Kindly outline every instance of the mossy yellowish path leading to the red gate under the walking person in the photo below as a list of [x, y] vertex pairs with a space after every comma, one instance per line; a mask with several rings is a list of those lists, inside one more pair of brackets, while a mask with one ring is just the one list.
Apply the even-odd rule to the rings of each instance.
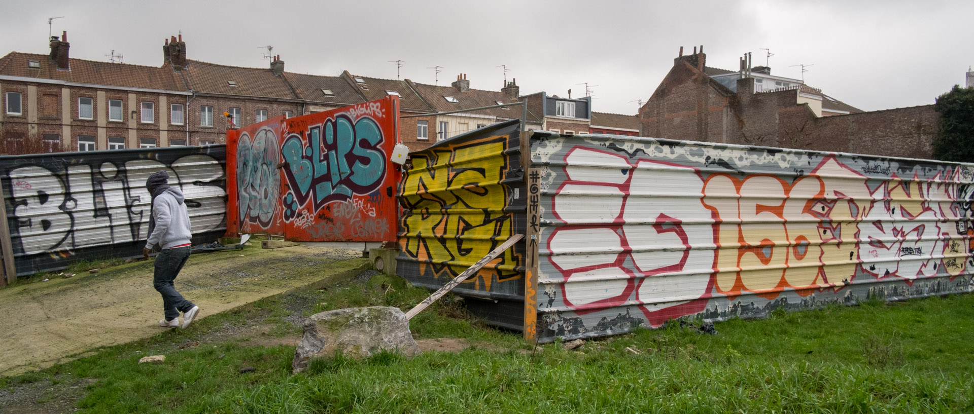
[[[176, 289], [206, 318], [323, 279], [354, 275], [367, 264], [360, 255], [309, 246], [193, 255]], [[0, 376], [160, 332], [162, 298], [152, 288], [152, 265], [152, 260], [134, 262], [0, 290]]]

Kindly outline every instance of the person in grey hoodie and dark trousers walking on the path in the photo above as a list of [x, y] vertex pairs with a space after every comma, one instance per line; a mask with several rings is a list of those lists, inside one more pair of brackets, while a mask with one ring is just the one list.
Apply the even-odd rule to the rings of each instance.
[[176, 292], [172, 281], [186, 264], [190, 253], [189, 214], [182, 191], [169, 187], [169, 174], [158, 171], [149, 176], [145, 188], [152, 194], [152, 210], [149, 216], [149, 240], [142, 256], [159, 249], [156, 256], [156, 272], [152, 285], [163, 295], [163, 311], [166, 318], [159, 321], [164, 328], [179, 326], [179, 312], [183, 313], [182, 328], [196, 319], [200, 307]]

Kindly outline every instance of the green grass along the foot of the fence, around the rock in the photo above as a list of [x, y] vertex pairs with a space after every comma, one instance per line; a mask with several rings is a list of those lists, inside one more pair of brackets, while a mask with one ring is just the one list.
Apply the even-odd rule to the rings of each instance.
[[[933, 297], [731, 320], [716, 335], [656, 330], [532, 350], [519, 334], [464, 318], [456, 299], [411, 322], [422, 338], [476, 344], [406, 359], [313, 360], [291, 375], [292, 346], [176, 344], [257, 320], [296, 335], [298, 316], [350, 306], [409, 308], [428, 293], [402, 280], [303, 291], [214, 315], [92, 357], [0, 381], [15, 388], [97, 378], [78, 403], [92, 413], [891, 413], [974, 412], [974, 295]], [[461, 318], [457, 318], [461, 316]], [[284, 327], [284, 328], [280, 328]], [[626, 348], [637, 350], [634, 354]], [[146, 355], [167, 361], [135, 363]], [[252, 372], [240, 373], [244, 366]]]

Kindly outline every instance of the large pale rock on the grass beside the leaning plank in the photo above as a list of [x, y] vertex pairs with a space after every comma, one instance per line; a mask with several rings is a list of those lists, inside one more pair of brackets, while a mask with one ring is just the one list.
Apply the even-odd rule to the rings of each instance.
[[409, 332], [409, 320], [398, 308], [370, 306], [321, 312], [305, 321], [291, 367], [298, 373], [312, 358], [333, 357], [336, 352], [367, 358], [384, 350], [409, 357], [420, 353]]

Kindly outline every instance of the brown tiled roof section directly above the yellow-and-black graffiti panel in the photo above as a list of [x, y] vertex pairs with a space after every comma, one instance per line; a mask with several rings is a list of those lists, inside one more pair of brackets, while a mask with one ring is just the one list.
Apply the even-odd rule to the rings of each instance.
[[[459, 111], [462, 109], [479, 108], [484, 106], [497, 105], [498, 101], [503, 103], [514, 103], [516, 99], [510, 99], [505, 92], [495, 90], [469, 89], [461, 92], [454, 86], [433, 86], [417, 84], [408, 81], [413, 88], [432, 106], [437, 112]], [[444, 96], [455, 98], [457, 102], [449, 102]], [[494, 108], [471, 112], [471, 114], [491, 115], [506, 119], [521, 118], [520, 107]]]

